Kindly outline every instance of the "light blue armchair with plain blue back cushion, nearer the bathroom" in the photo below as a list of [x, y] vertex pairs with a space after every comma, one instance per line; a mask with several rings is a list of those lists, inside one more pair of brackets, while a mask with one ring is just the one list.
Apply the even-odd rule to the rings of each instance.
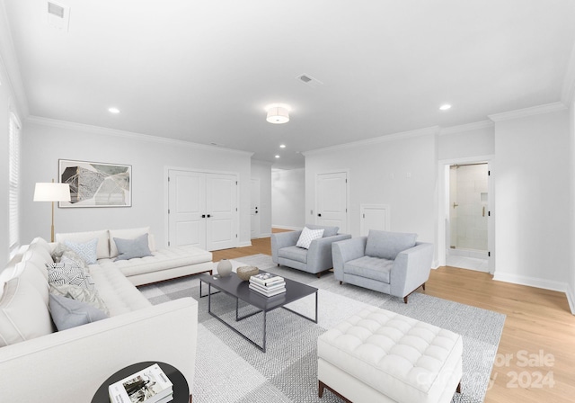
[[369, 290], [403, 298], [425, 290], [433, 260], [433, 244], [416, 242], [416, 234], [370, 230], [332, 244], [335, 278]]

